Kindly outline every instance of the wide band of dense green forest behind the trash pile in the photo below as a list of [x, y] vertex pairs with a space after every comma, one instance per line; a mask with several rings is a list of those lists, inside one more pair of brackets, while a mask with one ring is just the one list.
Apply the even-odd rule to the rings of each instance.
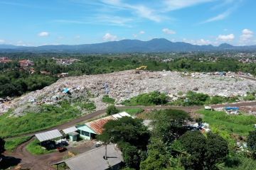
[[[12, 62], [0, 63], [0, 97], [21, 96], [42, 89], [57, 81], [58, 74], [68, 76], [103, 74], [146, 65], [149, 71], [182, 72], [247, 72], [256, 75], [256, 64], [244, 64], [238, 59], [221, 54], [132, 54], [132, 55], [80, 55], [80, 54], [33, 54], [6, 53]], [[78, 59], [73, 64], [61, 64], [60, 59]], [[202, 60], [203, 58], [203, 60]], [[21, 67], [19, 60], [31, 60], [33, 66]], [[33, 72], [31, 72], [33, 68]]]

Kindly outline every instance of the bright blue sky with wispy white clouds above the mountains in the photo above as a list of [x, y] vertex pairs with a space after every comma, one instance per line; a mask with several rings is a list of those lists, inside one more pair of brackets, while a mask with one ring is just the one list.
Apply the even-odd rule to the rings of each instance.
[[166, 38], [255, 45], [255, 0], [0, 0], [0, 44]]

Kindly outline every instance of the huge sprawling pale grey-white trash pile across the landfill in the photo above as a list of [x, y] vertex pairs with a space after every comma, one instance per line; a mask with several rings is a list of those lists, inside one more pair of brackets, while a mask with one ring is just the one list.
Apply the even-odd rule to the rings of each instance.
[[[108, 94], [117, 103], [142, 93], [161, 91], [177, 95], [178, 92], [198, 91], [210, 96], [244, 96], [247, 91], [256, 89], [255, 81], [240, 77], [220, 77], [219, 75], [193, 74], [187, 76], [181, 72], [141, 72], [134, 70], [111, 74], [65, 77], [41, 90], [33, 91], [11, 101], [11, 108], [19, 108], [28, 103], [55, 104], [58, 101], [90, 99], [95, 101], [97, 110], [107, 107], [102, 96]], [[0, 111], [1, 112], [1, 111]]]

